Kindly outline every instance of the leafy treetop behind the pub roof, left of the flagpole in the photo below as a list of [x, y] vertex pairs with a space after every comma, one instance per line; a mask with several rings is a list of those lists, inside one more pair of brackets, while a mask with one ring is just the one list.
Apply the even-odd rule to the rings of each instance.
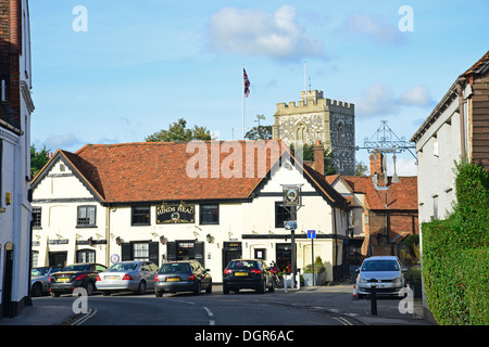
[[205, 127], [193, 126], [187, 129], [187, 120], [179, 118], [168, 130], [160, 130], [145, 139], [147, 142], [187, 142], [191, 140], [211, 140], [211, 131]]

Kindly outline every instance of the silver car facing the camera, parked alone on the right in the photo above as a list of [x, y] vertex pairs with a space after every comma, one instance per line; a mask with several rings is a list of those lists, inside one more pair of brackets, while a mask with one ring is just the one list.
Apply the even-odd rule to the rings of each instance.
[[356, 269], [356, 293], [358, 297], [369, 295], [372, 293], [372, 283], [376, 285], [378, 295], [398, 295], [404, 287], [403, 272], [406, 268], [402, 267], [401, 261], [396, 256], [376, 256], [363, 260], [362, 266]]

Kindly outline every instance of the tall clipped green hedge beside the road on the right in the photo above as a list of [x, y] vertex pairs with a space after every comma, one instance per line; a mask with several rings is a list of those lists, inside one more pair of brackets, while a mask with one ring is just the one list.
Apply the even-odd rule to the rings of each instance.
[[439, 324], [489, 324], [489, 180], [455, 163], [457, 203], [447, 220], [423, 223], [423, 281]]

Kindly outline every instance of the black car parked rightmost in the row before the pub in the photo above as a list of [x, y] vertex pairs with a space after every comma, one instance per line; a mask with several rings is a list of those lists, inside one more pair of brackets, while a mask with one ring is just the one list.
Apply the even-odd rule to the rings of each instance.
[[236, 259], [229, 261], [224, 270], [223, 292], [239, 292], [239, 290], [250, 288], [259, 293], [275, 291], [273, 274], [268, 266], [261, 259]]

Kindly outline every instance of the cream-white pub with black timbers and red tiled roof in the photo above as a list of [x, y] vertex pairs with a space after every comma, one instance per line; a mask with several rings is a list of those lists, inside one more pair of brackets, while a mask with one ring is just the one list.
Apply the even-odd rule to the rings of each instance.
[[[196, 144], [197, 143], [197, 144]], [[314, 163], [296, 159], [279, 140], [87, 144], [58, 150], [32, 182], [34, 267], [122, 260], [197, 259], [214, 283], [229, 260], [261, 258], [290, 270], [314, 256], [328, 281], [344, 270], [350, 207], [324, 179], [324, 147]], [[301, 205], [284, 206], [284, 187]]]

